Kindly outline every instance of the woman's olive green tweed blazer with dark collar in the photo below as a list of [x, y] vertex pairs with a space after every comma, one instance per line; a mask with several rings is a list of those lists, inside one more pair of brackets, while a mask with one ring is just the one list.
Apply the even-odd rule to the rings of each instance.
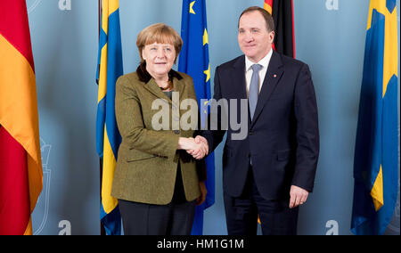
[[[184, 99], [196, 101], [192, 78], [184, 73], [170, 70], [174, 92], [179, 102]], [[151, 110], [152, 102], [163, 99], [169, 107], [170, 130], [155, 130], [152, 118], [159, 110]], [[174, 99], [173, 99], [174, 100]], [[193, 137], [194, 130], [172, 130], [173, 104], [156, 84], [154, 78], [141, 66], [136, 72], [119, 78], [116, 84], [116, 118], [122, 142], [114, 172], [111, 195], [117, 199], [166, 205], [173, 198], [178, 163], [184, 183], [186, 200], [201, 195], [199, 182], [206, 179], [206, 167], [186, 151], [177, 151], [179, 137]], [[187, 110], [179, 110], [182, 116]], [[201, 164], [201, 165], [200, 165]]]

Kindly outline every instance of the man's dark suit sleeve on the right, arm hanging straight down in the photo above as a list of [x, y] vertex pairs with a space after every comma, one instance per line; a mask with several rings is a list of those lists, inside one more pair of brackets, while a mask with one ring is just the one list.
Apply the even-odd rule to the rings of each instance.
[[292, 184], [312, 192], [319, 157], [319, 127], [315, 88], [307, 64], [300, 69], [296, 81], [294, 112], [297, 152]]

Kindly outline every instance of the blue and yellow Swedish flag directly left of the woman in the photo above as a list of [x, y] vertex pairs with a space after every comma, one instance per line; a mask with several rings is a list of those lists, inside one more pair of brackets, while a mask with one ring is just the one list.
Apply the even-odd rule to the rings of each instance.
[[111, 197], [121, 135], [114, 110], [116, 81], [123, 74], [119, 26], [119, 0], [102, 0], [97, 79], [99, 94], [96, 118], [96, 150], [102, 159], [101, 221], [107, 234], [121, 234], [118, 201]]

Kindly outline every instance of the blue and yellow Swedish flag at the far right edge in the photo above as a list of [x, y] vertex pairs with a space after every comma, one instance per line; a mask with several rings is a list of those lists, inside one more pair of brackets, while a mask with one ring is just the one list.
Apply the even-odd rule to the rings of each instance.
[[371, 0], [354, 161], [355, 234], [383, 234], [398, 189], [396, 0]]

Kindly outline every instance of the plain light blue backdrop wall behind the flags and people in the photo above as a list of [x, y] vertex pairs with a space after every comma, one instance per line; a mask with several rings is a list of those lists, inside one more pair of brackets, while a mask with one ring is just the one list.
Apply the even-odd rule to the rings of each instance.
[[[241, 54], [237, 44], [240, 13], [263, 2], [207, 1], [211, 77], [219, 64]], [[119, 3], [124, 72], [128, 73], [139, 62], [138, 32], [155, 22], [165, 22], [179, 32], [182, 1]], [[33, 215], [34, 233], [99, 234], [94, 82], [98, 1], [27, 0], [27, 4], [44, 169], [44, 191]], [[315, 192], [300, 208], [299, 234], [350, 234], [368, 8], [366, 0], [294, 0], [297, 58], [307, 62], [313, 74], [321, 131]], [[397, 11], [399, 25], [399, 0]], [[216, 151], [216, 204], [205, 213], [205, 234], [226, 234], [221, 156], [222, 145]], [[399, 234], [399, 197], [387, 233]]]

